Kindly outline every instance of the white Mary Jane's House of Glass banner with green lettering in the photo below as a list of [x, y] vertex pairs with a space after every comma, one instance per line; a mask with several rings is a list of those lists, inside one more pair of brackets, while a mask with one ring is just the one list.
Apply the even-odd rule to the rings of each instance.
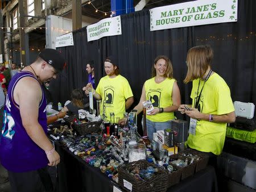
[[238, 0], [197, 0], [150, 10], [150, 31], [237, 22]]

